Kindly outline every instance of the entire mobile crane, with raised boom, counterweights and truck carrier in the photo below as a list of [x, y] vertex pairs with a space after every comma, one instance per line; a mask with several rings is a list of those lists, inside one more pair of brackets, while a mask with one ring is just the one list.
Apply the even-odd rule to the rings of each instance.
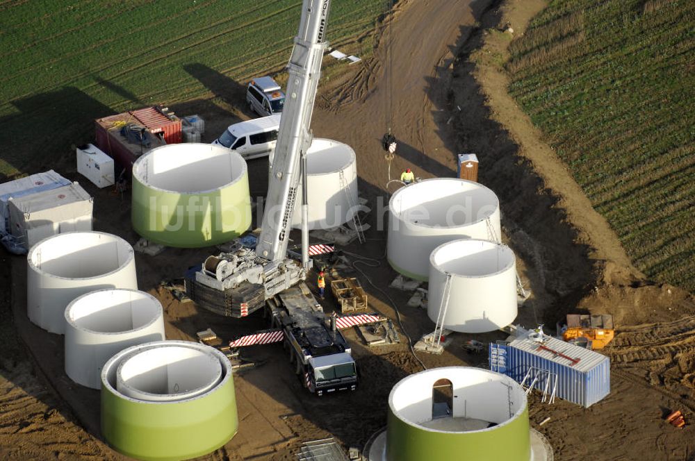
[[[265, 305], [284, 334], [297, 374], [317, 394], [355, 389], [357, 368], [340, 330], [331, 325], [303, 283], [311, 269], [306, 151], [321, 60], [327, 47], [331, 0], [304, 0], [299, 33], [287, 65], [286, 102], [280, 119], [261, 233], [255, 248], [208, 257], [186, 276], [186, 292], [197, 305], [221, 315], [245, 317]], [[297, 187], [302, 187], [302, 260], [288, 258], [287, 246]]]

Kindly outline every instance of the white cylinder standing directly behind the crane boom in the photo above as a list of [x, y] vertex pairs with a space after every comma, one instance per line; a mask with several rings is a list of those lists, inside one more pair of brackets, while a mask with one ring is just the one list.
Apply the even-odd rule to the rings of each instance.
[[[268, 158], [271, 174], [272, 160], [271, 152]], [[306, 185], [309, 229], [333, 228], [352, 219], [358, 203], [357, 157], [352, 147], [334, 140], [314, 139], [306, 152]], [[297, 188], [292, 226], [302, 226], [301, 182]]]

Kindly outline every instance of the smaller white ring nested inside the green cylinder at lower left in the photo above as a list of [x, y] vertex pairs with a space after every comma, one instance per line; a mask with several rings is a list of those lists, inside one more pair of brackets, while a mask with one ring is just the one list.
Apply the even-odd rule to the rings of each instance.
[[206, 349], [167, 344], [136, 351], [116, 372], [116, 390], [142, 401], [179, 401], [205, 394], [222, 380], [220, 360]]

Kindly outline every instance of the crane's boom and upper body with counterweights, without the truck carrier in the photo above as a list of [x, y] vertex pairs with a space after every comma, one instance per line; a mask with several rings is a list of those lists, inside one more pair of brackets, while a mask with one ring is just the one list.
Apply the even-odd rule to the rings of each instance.
[[[186, 277], [190, 299], [213, 312], [245, 317], [266, 300], [306, 278], [309, 260], [309, 206], [306, 193], [306, 151], [321, 73], [326, 22], [331, 0], [303, 0], [302, 19], [287, 65], [285, 106], [280, 118], [261, 233], [254, 249], [234, 242], [236, 249], [208, 257]], [[302, 191], [302, 264], [288, 258], [287, 246], [297, 187]]]

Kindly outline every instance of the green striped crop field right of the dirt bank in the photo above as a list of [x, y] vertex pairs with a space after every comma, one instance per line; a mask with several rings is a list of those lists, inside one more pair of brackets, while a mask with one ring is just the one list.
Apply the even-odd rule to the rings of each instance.
[[551, 1], [509, 90], [635, 265], [695, 290], [695, 2]]

